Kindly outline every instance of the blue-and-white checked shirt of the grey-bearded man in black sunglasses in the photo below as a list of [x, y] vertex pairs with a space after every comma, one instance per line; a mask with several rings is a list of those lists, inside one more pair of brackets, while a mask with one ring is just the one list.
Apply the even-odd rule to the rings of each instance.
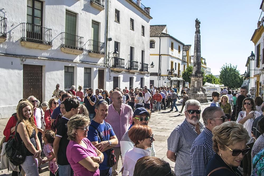
[[[204, 130], [204, 125], [198, 122], [200, 131]], [[195, 126], [186, 119], [178, 125], [169, 136], [168, 150], [176, 155], [174, 172], [177, 176], [191, 175], [191, 147], [198, 136]]]

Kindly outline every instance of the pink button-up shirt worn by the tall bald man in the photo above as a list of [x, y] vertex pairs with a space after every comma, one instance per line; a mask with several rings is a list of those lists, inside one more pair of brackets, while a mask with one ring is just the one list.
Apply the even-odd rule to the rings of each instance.
[[[133, 117], [133, 110], [131, 106], [122, 103], [120, 110], [121, 111], [119, 115], [113, 104], [110, 104], [108, 108], [108, 115], [105, 119], [105, 121], [112, 126], [118, 141], [120, 141], [125, 132], [128, 131]], [[116, 147], [120, 147], [119, 142]]]

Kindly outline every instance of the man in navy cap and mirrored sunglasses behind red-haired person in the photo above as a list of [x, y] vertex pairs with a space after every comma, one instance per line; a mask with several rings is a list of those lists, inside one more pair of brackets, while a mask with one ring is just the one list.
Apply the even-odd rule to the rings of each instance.
[[[147, 110], [143, 107], [137, 108], [134, 111], [133, 114], [133, 122], [131, 124], [131, 126], [129, 127], [129, 129], [136, 124], [139, 125], [148, 125], [149, 119], [151, 116], [151, 111]], [[121, 159], [122, 159], [122, 163], [124, 163], [124, 156], [126, 154], [126, 152], [129, 149], [133, 149], [134, 147], [134, 143], [131, 141], [131, 139], [128, 137], [128, 132], [129, 130], [124, 134], [124, 136], [122, 137], [122, 139], [120, 140], [120, 147], [121, 147]], [[156, 156], [156, 151], [154, 149], [154, 143], [152, 144], [151, 148], [148, 148], [147, 150], [152, 151], [151, 156]]]

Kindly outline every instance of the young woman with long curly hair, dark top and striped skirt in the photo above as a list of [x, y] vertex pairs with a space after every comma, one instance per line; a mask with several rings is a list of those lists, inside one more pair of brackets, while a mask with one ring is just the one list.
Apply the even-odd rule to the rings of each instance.
[[22, 101], [17, 105], [17, 140], [26, 146], [26, 158], [21, 164], [26, 175], [39, 175], [38, 162], [42, 162], [41, 146], [32, 112], [33, 106], [29, 101]]

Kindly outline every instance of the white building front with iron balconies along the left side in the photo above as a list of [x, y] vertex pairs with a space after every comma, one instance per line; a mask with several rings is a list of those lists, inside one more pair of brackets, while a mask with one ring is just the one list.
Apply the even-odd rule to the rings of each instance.
[[[148, 29], [151, 17], [149, 8], [143, 8], [140, 1], [126, 0], [122, 4], [111, 1], [108, 17], [107, 1], [104, 0], [0, 0], [0, 4], [3, 8], [0, 11], [0, 81], [7, 90], [4, 94], [8, 95], [0, 98], [0, 118], [10, 117], [18, 101], [30, 95], [40, 102], [49, 101], [56, 84], [60, 84], [62, 90], [69, 90], [72, 85], [77, 88], [82, 85], [84, 89], [113, 89], [113, 78], [123, 77], [123, 73], [114, 75], [109, 72], [112, 72], [112, 65], [107, 60], [107, 53], [114, 49], [114, 43], [106, 40], [107, 31], [108, 36], [111, 35], [113, 41], [119, 41], [121, 45], [132, 38], [132, 34], [127, 38], [130, 31], [121, 32], [111, 26], [117, 7], [123, 15], [120, 29], [127, 24], [129, 26], [130, 17], [125, 15], [127, 9], [135, 20], [136, 34], [141, 36], [144, 25], [145, 38], [135, 39], [133, 45], [137, 47], [136, 44], [140, 43], [140, 49], [145, 51], [143, 61], [149, 63]], [[110, 47], [106, 50], [107, 42]], [[125, 50], [129, 52], [129, 49], [120, 48], [123, 51], [120, 51], [119, 57], [125, 57]], [[147, 71], [138, 70], [139, 75], [145, 78], [143, 80], [148, 82]], [[134, 73], [131, 75], [135, 76]], [[138, 79], [135, 76], [135, 83], [139, 85]], [[119, 86], [128, 85], [129, 81]]]

